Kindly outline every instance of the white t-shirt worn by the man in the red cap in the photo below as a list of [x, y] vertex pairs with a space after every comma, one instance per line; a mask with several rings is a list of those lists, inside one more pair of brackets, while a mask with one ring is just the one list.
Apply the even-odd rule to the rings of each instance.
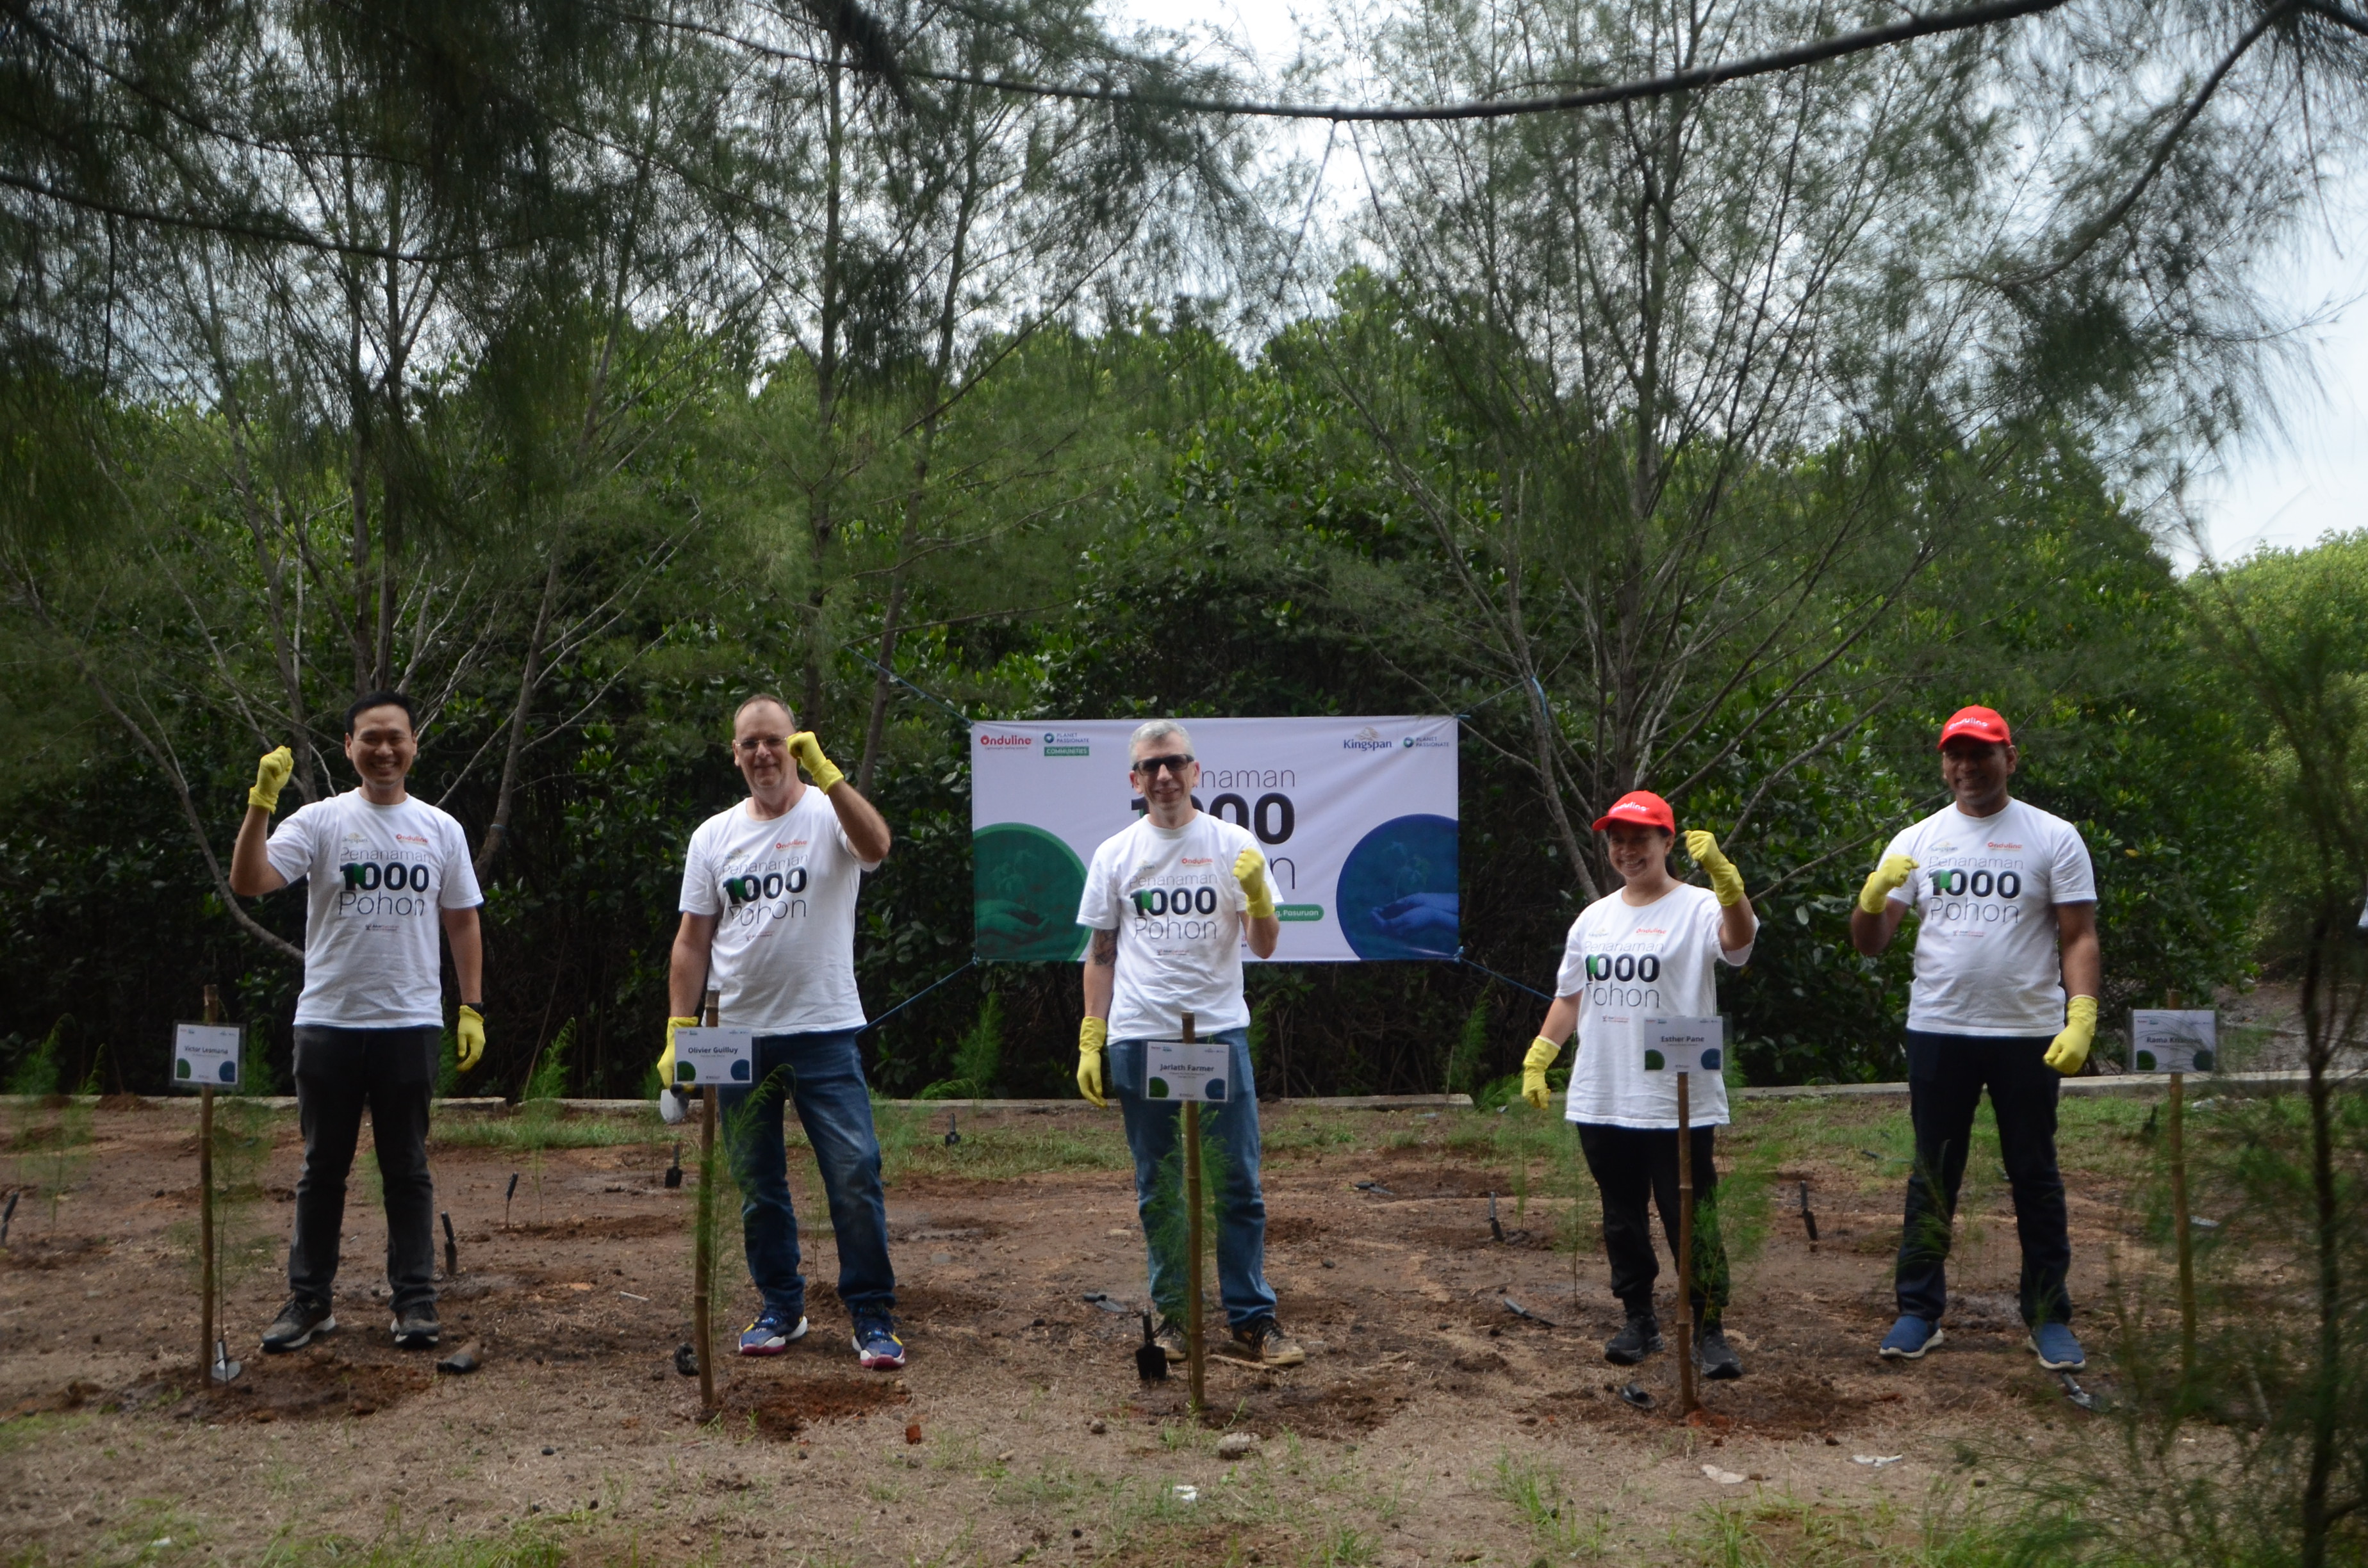
[[1916, 872], [1892, 902], [1918, 914], [1909, 1028], [2053, 1035], [2065, 1026], [2055, 905], [2096, 902], [2079, 829], [2008, 801], [1996, 817], [1946, 805], [1892, 838]]

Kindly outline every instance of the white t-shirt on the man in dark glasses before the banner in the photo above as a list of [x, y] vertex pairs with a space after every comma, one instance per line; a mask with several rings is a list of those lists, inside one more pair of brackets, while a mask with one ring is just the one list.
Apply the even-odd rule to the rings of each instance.
[[1111, 1040], [1175, 1040], [1186, 1011], [1201, 1037], [1248, 1028], [1241, 933], [1250, 900], [1234, 860], [1255, 846], [1250, 829], [1193, 812], [1184, 827], [1137, 817], [1094, 850], [1077, 924], [1118, 931]]

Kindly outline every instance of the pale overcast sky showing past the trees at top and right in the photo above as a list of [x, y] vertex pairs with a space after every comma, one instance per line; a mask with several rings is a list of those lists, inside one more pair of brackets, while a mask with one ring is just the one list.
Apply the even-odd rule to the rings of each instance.
[[[1298, 17], [1321, 21], [1317, 5], [1238, 5], [1236, 0], [1113, 0], [1118, 17], [1189, 28], [1250, 54], [1269, 83], [1298, 50]], [[1328, 130], [1291, 128], [1314, 161]], [[1354, 180], [1340, 149], [1326, 187]], [[1338, 197], [1338, 192], [1328, 192]], [[1328, 206], [1328, 204], [1326, 204]], [[2226, 469], [2190, 490], [2212, 554], [2235, 559], [2257, 547], [2311, 545], [2325, 533], [2368, 528], [2368, 178], [2330, 194], [2328, 213], [2297, 234], [2297, 258], [2280, 291], [2297, 313], [2328, 313], [2306, 334], [2311, 372], [2278, 384], [2276, 419], [2226, 455]], [[2176, 552], [2183, 561], [2188, 550]]]

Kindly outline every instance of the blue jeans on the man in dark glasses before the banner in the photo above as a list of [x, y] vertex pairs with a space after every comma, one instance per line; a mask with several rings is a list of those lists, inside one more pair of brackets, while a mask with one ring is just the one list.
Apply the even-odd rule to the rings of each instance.
[[[1217, 1191], [1217, 1293], [1234, 1329], [1274, 1317], [1267, 1284], [1267, 1194], [1257, 1187], [1257, 1085], [1250, 1078], [1250, 1030], [1222, 1028], [1205, 1035], [1234, 1047], [1234, 1073], [1224, 1104], [1201, 1106], [1201, 1172]], [[1134, 1208], [1144, 1220], [1151, 1255], [1151, 1300], [1184, 1319], [1191, 1272], [1184, 1267], [1184, 1106], [1144, 1099], [1144, 1042], [1111, 1042], [1111, 1092], [1127, 1120], [1134, 1151]]]

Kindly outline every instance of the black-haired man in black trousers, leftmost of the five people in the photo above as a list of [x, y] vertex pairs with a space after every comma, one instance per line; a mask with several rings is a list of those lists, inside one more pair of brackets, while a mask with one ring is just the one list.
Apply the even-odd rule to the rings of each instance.
[[485, 902], [459, 822], [405, 789], [419, 760], [412, 699], [369, 692], [346, 708], [346, 758], [362, 786], [301, 808], [270, 831], [296, 758], [279, 746], [256, 765], [246, 820], [230, 850], [242, 898], [308, 883], [303, 992], [296, 997], [296, 1241], [289, 1300], [265, 1350], [296, 1350], [336, 1329], [332, 1315], [346, 1177], [369, 1111], [386, 1201], [386, 1286], [395, 1343], [436, 1343], [436, 1182], [429, 1175], [429, 1097], [443, 1047], [438, 926], [459, 978], [459, 1071], [485, 1052]]

